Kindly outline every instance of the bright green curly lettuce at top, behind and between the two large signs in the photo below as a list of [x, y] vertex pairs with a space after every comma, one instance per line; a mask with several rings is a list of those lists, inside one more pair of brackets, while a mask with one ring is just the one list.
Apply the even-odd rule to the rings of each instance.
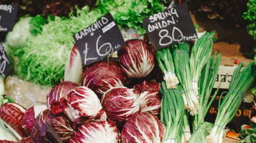
[[142, 19], [164, 10], [161, 1], [101, 0], [98, 9], [110, 12], [120, 28], [133, 28], [140, 35], [146, 33]]

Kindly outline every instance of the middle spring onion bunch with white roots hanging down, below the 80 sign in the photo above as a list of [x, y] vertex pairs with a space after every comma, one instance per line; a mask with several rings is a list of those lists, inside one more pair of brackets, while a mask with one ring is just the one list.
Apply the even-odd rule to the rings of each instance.
[[185, 108], [191, 115], [197, 114], [199, 102], [193, 90], [192, 77], [189, 67], [189, 44], [173, 45], [173, 61], [175, 73], [179, 79], [183, 93]]

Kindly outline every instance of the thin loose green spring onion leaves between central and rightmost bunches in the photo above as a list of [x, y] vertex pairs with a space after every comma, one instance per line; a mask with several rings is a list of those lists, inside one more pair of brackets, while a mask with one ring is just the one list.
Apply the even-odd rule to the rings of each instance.
[[220, 61], [221, 54], [217, 54], [217, 52], [215, 52], [201, 72], [201, 77], [199, 78], [198, 82], [198, 98], [200, 108], [198, 114], [194, 116], [193, 130], [196, 130], [199, 125], [204, 122], [204, 117], [207, 114], [207, 111], [209, 110], [213, 100], [217, 96], [219, 88], [215, 91], [214, 95], [210, 99], [214, 82], [219, 71]]

